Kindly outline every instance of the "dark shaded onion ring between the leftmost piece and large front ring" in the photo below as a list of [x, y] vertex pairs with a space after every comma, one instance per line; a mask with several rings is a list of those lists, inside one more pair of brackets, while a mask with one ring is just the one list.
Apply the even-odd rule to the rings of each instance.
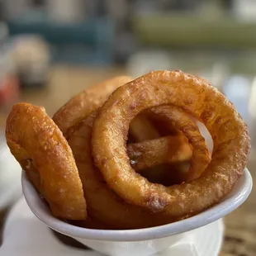
[[[168, 223], [170, 220], [166, 216], [152, 215], [138, 206], [130, 205], [107, 186], [91, 154], [92, 122], [95, 116], [96, 112], [81, 121], [69, 138], [83, 183], [88, 215], [111, 225], [113, 229], [136, 229]], [[86, 222], [83, 226], [87, 226]]]

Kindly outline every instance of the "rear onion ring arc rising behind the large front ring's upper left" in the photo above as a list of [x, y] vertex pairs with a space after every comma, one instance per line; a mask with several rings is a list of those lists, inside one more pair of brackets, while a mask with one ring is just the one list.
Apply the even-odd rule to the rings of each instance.
[[53, 121], [59, 126], [66, 138], [73, 132], [73, 126], [83, 117], [88, 116], [97, 107], [101, 107], [111, 92], [115, 91], [121, 85], [130, 82], [131, 78], [119, 76], [97, 84], [78, 93], [72, 97], [63, 107], [53, 116]]

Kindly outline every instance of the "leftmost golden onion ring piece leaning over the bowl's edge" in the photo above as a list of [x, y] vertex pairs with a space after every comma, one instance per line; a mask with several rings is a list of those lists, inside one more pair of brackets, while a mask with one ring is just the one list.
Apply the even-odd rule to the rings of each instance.
[[6, 137], [21, 167], [29, 171], [36, 169], [40, 174], [36, 187], [53, 214], [63, 219], [84, 220], [86, 201], [78, 168], [67, 140], [47, 116], [45, 108], [28, 103], [12, 107]]

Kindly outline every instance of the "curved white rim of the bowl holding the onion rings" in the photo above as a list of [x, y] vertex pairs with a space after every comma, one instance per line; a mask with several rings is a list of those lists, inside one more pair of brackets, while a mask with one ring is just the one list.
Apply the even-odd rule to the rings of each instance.
[[235, 211], [249, 197], [253, 187], [253, 179], [249, 170], [244, 169], [244, 175], [238, 180], [239, 185], [235, 185], [230, 193], [233, 195], [226, 197], [216, 206], [212, 206], [206, 211], [189, 217], [185, 220], [179, 220], [167, 225], [137, 229], [137, 230], [92, 230], [78, 227], [59, 220], [51, 215], [50, 209], [41, 200], [36, 189], [28, 180], [25, 171], [21, 176], [22, 190], [27, 205], [34, 215], [48, 225], [51, 229], [78, 239], [92, 239], [105, 241], [142, 241], [149, 239], [159, 239], [169, 235], [178, 235], [189, 230], [197, 229], [203, 225], [210, 224], [219, 220], [223, 216]]

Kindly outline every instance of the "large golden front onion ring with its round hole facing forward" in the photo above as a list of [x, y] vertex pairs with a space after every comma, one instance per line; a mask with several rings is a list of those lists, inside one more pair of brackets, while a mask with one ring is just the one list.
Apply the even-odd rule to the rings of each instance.
[[[140, 111], [172, 104], [209, 130], [214, 149], [200, 178], [164, 187], [135, 173], [126, 151], [130, 121]], [[121, 198], [170, 217], [192, 216], [227, 195], [249, 158], [248, 128], [233, 104], [204, 79], [179, 70], [148, 73], [111, 94], [94, 121], [92, 155], [107, 184]]]

